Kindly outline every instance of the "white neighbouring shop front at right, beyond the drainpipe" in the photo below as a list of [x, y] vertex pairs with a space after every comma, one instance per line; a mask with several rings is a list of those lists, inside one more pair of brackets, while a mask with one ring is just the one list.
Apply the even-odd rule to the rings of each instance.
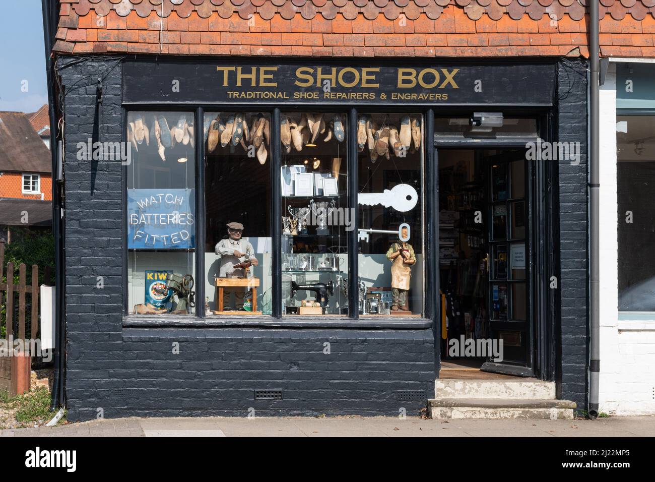
[[612, 58], [601, 87], [601, 375], [599, 410], [655, 413], [655, 66]]

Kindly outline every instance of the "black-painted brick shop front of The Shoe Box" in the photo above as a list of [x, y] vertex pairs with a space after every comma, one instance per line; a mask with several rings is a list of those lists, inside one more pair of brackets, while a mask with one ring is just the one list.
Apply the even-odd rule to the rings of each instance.
[[584, 64], [107, 58], [64, 89], [90, 71], [64, 110], [73, 418], [416, 413], [462, 359], [584, 403]]

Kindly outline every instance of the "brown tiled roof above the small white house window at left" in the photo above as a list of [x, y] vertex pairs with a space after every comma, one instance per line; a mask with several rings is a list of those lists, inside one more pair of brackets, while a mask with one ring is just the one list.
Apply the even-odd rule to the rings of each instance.
[[50, 151], [22, 112], [0, 111], [0, 172], [50, 172]]

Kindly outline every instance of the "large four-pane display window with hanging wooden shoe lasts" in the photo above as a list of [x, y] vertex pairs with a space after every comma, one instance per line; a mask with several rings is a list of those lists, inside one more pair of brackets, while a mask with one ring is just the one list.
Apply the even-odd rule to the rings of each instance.
[[[257, 111], [208, 110], [197, 127], [191, 112], [130, 112], [127, 119], [130, 312], [248, 317], [272, 315], [276, 305], [284, 317], [317, 321], [422, 316], [421, 114], [363, 112], [350, 126], [346, 111], [288, 111], [276, 132], [271, 113]], [[348, 132], [356, 136], [354, 159]], [[195, 138], [204, 151], [199, 176]], [[280, 146], [274, 167], [272, 146]], [[349, 166], [358, 172], [354, 192]], [[273, 203], [278, 169], [281, 197]], [[200, 182], [204, 199], [196, 195]], [[196, 198], [204, 218], [197, 232], [204, 273], [197, 276]], [[280, 239], [272, 239], [273, 223]], [[276, 276], [273, 249], [281, 251]], [[356, 256], [356, 279], [349, 256]], [[273, 289], [278, 275], [280, 291]], [[199, 284], [204, 300], [194, 299]], [[349, 306], [354, 290], [359, 296]]]

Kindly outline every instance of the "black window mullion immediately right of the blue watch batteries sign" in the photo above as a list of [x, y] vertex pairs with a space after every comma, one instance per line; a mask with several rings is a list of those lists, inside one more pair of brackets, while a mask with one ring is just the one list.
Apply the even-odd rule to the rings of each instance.
[[[196, 109], [196, 128], [193, 130], [196, 145], [196, 316], [204, 318], [205, 315], [205, 270], [204, 251], [206, 238], [206, 216], [204, 202], [204, 110]], [[218, 309], [218, 308], [216, 308]]]

